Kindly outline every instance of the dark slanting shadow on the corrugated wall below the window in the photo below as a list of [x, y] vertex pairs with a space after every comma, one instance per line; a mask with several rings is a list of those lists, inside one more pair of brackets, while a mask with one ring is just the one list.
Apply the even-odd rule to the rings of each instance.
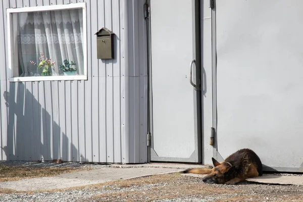
[[[43, 82], [41, 84], [43, 85]], [[86, 162], [84, 155], [79, 154], [72, 139], [66, 135], [66, 131], [61, 130], [58, 123], [52, 120], [49, 112], [25, 85], [22, 82], [10, 82], [10, 91], [3, 94], [8, 108], [7, 145], [2, 147], [6, 159], [20, 161], [62, 159]], [[40, 96], [44, 96], [42, 102], [46, 106], [45, 94]], [[53, 100], [52, 94], [51, 99]], [[65, 124], [66, 120], [59, 122]]]

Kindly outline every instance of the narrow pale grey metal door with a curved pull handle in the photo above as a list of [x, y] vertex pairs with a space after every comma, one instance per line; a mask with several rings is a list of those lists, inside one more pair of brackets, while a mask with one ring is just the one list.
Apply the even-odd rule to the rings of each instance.
[[[150, 0], [151, 161], [200, 162], [199, 92], [190, 84], [189, 68], [199, 56], [196, 4], [193, 0]], [[194, 83], [199, 80], [197, 66], [192, 66]]]

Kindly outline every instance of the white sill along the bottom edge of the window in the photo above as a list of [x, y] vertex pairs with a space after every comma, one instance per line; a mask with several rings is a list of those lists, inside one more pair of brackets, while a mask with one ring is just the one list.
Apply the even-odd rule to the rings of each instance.
[[10, 78], [10, 82], [22, 82], [22, 81], [68, 81], [68, 80], [87, 80], [87, 75], [76, 76], [29, 76], [29, 77], [13, 77]]

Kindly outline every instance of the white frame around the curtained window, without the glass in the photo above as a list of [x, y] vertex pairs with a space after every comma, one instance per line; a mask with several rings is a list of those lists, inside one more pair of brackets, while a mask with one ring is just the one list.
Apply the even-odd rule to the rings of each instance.
[[[12, 24], [11, 17], [13, 13], [25, 12], [40, 12], [40, 11], [56, 11], [56, 10], [69, 10], [69, 9], [83, 9], [83, 64], [84, 75], [75, 76], [29, 76], [29, 77], [13, 77], [13, 49], [12, 49]], [[87, 80], [87, 19], [86, 19], [86, 3], [75, 3], [67, 5], [52, 5], [52, 6], [39, 6], [39, 7], [24, 7], [7, 9], [7, 23], [8, 23], [8, 59], [9, 59], [9, 78], [10, 82], [20, 81], [60, 81], [60, 80]], [[16, 67], [15, 67], [16, 68]]]

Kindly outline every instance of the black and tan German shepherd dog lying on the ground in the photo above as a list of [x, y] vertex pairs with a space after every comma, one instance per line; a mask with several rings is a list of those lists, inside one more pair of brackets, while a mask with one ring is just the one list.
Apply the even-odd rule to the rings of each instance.
[[246, 178], [263, 174], [260, 158], [248, 148], [236, 151], [221, 163], [214, 158], [212, 160], [214, 168], [192, 168], [184, 173], [208, 174], [203, 181], [211, 184], [236, 184]]

